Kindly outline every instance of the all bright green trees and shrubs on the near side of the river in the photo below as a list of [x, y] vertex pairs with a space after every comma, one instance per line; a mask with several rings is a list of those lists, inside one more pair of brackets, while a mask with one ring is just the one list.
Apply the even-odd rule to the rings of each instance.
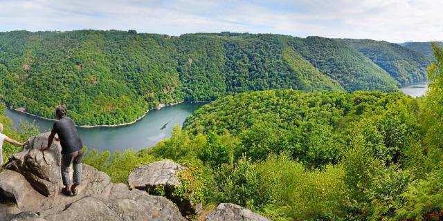
[[233, 202], [272, 220], [439, 220], [443, 48], [433, 48], [425, 97], [293, 89], [228, 95], [154, 148], [87, 151], [84, 162], [127, 182], [137, 166], [171, 159], [192, 171], [182, 197], [206, 209]]

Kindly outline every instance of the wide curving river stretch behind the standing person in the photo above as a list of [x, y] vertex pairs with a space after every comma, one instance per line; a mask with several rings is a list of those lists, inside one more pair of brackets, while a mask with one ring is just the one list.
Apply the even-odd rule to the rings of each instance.
[[[185, 121], [197, 108], [206, 103], [181, 103], [166, 106], [160, 110], [152, 110], [143, 119], [134, 124], [117, 127], [80, 128], [78, 135], [89, 149], [99, 151], [123, 151], [127, 148], [140, 150], [155, 146], [161, 140], [171, 136], [172, 128]], [[51, 131], [53, 121], [40, 119], [6, 108], [6, 115], [12, 119], [14, 126], [20, 121], [33, 122], [39, 126], [40, 132]]]

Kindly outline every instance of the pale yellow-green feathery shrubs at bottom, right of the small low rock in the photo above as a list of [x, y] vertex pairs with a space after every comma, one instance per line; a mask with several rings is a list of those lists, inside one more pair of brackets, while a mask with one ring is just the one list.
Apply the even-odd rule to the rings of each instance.
[[[290, 220], [336, 220], [343, 217], [344, 185], [341, 166], [306, 171], [289, 155], [270, 155], [257, 166], [261, 182], [271, 191], [266, 211], [281, 211]], [[278, 218], [275, 218], [278, 220]]]

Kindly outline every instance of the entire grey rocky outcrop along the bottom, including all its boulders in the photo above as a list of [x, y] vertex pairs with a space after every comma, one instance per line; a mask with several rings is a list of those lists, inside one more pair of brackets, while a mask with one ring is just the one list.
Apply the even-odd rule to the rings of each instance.
[[[23, 151], [10, 157], [8, 169], [0, 172], [0, 221], [185, 221], [183, 215], [189, 218], [201, 211], [201, 204], [175, 198], [174, 190], [181, 185], [179, 173], [188, 168], [168, 160], [136, 169], [129, 175], [131, 189], [112, 183], [106, 173], [83, 164], [78, 195], [67, 197], [60, 193], [60, 144], [54, 142], [49, 151], [39, 151], [47, 136], [48, 133], [31, 137]], [[167, 198], [150, 195], [159, 189], [180, 210]], [[206, 220], [268, 219], [235, 204], [219, 204]]]

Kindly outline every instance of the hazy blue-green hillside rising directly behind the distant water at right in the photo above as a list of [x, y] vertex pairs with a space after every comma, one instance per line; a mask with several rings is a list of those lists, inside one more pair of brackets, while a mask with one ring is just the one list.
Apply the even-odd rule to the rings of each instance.
[[424, 81], [430, 60], [424, 55], [386, 41], [341, 39], [389, 73], [401, 84]]

